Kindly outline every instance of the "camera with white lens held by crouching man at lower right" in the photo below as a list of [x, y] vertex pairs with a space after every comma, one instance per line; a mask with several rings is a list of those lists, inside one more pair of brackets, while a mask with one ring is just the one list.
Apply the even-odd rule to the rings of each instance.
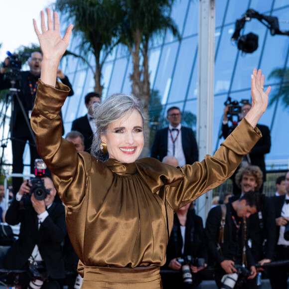
[[221, 282], [223, 283], [221, 289], [233, 289], [237, 283], [238, 287], [242, 287], [247, 278], [251, 276], [251, 272], [242, 265], [235, 264], [236, 273], [226, 274], [223, 276]]

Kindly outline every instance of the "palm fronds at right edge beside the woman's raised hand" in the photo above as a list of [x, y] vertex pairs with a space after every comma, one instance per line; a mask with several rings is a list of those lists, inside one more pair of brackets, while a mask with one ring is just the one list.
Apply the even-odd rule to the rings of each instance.
[[279, 90], [272, 95], [272, 98], [269, 102], [269, 105], [272, 106], [275, 102], [279, 101], [279, 99], [284, 104], [285, 108], [289, 107], [289, 68], [277, 68], [273, 70], [269, 79], [275, 78], [278, 79], [281, 83], [281, 87]]

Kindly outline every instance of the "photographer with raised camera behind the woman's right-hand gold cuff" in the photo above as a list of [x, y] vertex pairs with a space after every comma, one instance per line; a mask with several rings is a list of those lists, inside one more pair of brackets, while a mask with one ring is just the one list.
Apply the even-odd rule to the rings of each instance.
[[[228, 104], [229, 103], [229, 104]], [[236, 128], [238, 123], [246, 117], [247, 113], [252, 107], [252, 104], [249, 103], [249, 100], [242, 100], [241, 101], [242, 106], [239, 105], [237, 101], [231, 102], [231, 99], [229, 98], [229, 101], [225, 102], [225, 109], [224, 109], [224, 115], [223, 115], [223, 123], [222, 123], [222, 136], [224, 139], [228, 137], [228, 135]], [[234, 119], [233, 117], [237, 117], [237, 119]], [[228, 121], [232, 123], [232, 126], [229, 127]], [[259, 191], [262, 193], [263, 191], [263, 185], [266, 181], [266, 165], [265, 165], [265, 154], [270, 152], [271, 149], [271, 136], [270, 136], [270, 130], [267, 126], [259, 125], [257, 124], [257, 128], [262, 133], [262, 138], [258, 141], [257, 144], [251, 149], [251, 151], [243, 157], [243, 163], [252, 164], [252, 165], [258, 165], [260, 169], [263, 172], [263, 184], [260, 187]], [[236, 185], [235, 182], [235, 175], [238, 171], [238, 168], [234, 172], [234, 174], [230, 177], [233, 181], [233, 194], [240, 194], [240, 188]]]

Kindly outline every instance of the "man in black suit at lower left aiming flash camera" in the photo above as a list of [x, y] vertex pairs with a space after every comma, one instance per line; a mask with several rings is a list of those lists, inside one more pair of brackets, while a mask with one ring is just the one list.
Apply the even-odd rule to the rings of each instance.
[[[29, 284], [28, 288], [54, 289], [59, 288], [55, 280], [65, 278], [61, 252], [61, 242], [67, 233], [65, 210], [61, 203], [53, 202], [56, 190], [52, 180], [45, 175], [41, 179], [49, 191], [44, 200], [37, 200], [33, 193], [31, 197], [25, 197], [24, 194], [31, 189], [31, 182], [25, 181], [6, 212], [8, 224], [21, 225], [19, 238], [5, 257], [5, 268], [27, 271], [27, 276], [21, 280], [22, 288], [27, 288]], [[31, 277], [31, 265], [42, 268], [48, 274], [49, 278], [44, 280], [44, 284], [35, 278], [35, 274], [34, 278]]]

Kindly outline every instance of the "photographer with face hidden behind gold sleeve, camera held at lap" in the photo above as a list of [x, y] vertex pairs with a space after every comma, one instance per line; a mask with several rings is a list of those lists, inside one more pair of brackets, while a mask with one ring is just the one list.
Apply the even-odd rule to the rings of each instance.
[[[189, 203], [174, 214], [173, 228], [166, 249], [165, 267], [178, 270], [179, 274], [162, 278], [163, 288], [197, 288], [202, 281], [199, 272], [206, 267], [204, 264], [206, 258], [203, 221], [195, 214], [193, 205]], [[203, 264], [198, 263], [198, 260], [200, 263], [203, 261]], [[186, 265], [189, 267], [185, 268]], [[189, 278], [184, 272], [186, 269], [190, 270]]]

